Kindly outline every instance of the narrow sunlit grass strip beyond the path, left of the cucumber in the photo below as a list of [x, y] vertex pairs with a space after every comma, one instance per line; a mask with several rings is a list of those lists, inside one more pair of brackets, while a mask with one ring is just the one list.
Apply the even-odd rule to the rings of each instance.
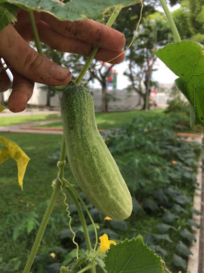
[[52, 119], [60, 119], [60, 114], [39, 114], [39, 115], [28, 115], [28, 116], [13, 116], [9, 117], [0, 117], [0, 126], [9, 126], [20, 123], [29, 123], [34, 121], [42, 121], [42, 120], [52, 120]]

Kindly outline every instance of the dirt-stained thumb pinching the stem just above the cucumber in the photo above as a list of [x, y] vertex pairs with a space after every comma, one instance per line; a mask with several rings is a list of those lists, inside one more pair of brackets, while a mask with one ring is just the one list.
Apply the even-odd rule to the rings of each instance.
[[0, 56], [20, 75], [48, 85], [63, 85], [70, 81], [71, 73], [38, 54], [9, 24], [0, 32]]

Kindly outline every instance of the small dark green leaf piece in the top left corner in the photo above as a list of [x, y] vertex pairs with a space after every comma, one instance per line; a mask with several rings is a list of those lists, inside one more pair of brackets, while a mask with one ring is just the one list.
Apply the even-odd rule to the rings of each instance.
[[18, 7], [12, 4], [0, 3], [0, 31], [9, 23], [15, 23], [17, 9]]

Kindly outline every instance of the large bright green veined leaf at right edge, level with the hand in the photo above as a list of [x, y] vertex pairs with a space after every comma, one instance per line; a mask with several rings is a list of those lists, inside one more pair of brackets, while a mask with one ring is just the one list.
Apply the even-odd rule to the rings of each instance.
[[203, 47], [196, 42], [183, 40], [168, 44], [154, 53], [173, 73], [180, 77], [176, 79], [176, 85], [192, 106], [193, 126], [204, 127]]

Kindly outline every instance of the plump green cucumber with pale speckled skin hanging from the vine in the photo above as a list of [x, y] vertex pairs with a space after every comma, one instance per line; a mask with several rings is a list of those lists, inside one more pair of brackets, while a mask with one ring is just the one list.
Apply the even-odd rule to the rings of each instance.
[[61, 99], [61, 114], [69, 165], [80, 188], [104, 215], [128, 218], [132, 197], [98, 131], [88, 89], [68, 87]]

